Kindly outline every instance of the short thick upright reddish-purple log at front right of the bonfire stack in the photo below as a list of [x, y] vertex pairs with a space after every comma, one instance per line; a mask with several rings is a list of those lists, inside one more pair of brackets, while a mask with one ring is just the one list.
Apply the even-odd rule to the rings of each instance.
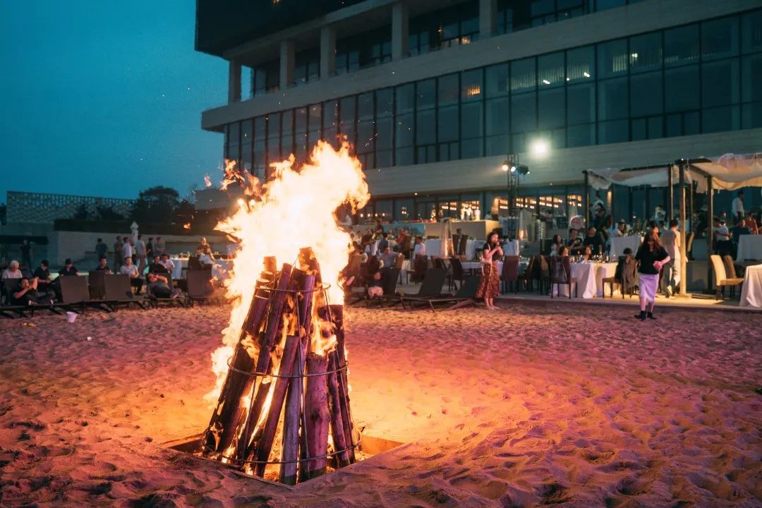
[[306, 471], [309, 478], [325, 473], [328, 452], [328, 385], [325, 372], [328, 359], [316, 353], [307, 354], [307, 378], [304, 394], [305, 434], [307, 437]]

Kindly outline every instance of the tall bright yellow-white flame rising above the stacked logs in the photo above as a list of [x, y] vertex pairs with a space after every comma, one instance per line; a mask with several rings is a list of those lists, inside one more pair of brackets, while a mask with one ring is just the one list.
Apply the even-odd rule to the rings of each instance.
[[293, 163], [292, 156], [272, 165], [272, 180], [261, 186], [248, 174], [233, 176], [232, 166], [226, 165], [223, 188], [238, 181], [246, 187], [245, 193], [256, 199], [239, 200], [236, 212], [216, 226], [237, 238], [239, 245], [231, 278], [226, 281], [233, 306], [223, 330], [225, 346], [212, 353], [217, 386], [207, 395], [210, 401], [219, 396], [226, 373], [221, 366], [226, 365], [239, 340], [255, 282], [264, 270], [264, 257], [277, 257], [280, 268], [283, 263], [295, 264], [299, 249], [311, 247], [323, 282], [331, 285], [328, 298], [334, 304], [344, 302], [338, 277], [347, 264], [351, 236], [339, 228], [335, 211], [344, 203], [362, 208], [370, 198], [360, 161], [349, 154], [346, 142], [338, 150], [318, 142], [308, 163], [299, 168]]

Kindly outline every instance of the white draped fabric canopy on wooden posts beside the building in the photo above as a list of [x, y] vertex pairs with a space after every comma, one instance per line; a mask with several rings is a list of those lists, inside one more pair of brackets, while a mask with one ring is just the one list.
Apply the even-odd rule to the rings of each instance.
[[[696, 192], [709, 192], [708, 216], [714, 216], [712, 190], [736, 190], [742, 187], [762, 187], [762, 152], [746, 155], [725, 154], [716, 158], [679, 159], [671, 164], [652, 165], [642, 168], [604, 168], [584, 171], [585, 192], [583, 195], [585, 219], [589, 221], [588, 191], [607, 189], [611, 184], [637, 187], [668, 187], [668, 216], [672, 217], [674, 183], [679, 181], [680, 193], [680, 294], [686, 292], [686, 196], [685, 187], [690, 182]], [[692, 200], [691, 200], [692, 201]], [[693, 203], [690, 204], [693, 209]], [[712, 252], [714, 236], [712, 220], [708, 221], [706, 243], [707, 252]], [[712, 264], [708, 264], [707, 289], [712, 286]]]

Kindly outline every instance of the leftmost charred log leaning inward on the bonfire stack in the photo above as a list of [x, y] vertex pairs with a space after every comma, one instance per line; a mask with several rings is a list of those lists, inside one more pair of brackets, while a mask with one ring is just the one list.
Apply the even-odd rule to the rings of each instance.
[[[263, 273], [264, 275], [264, 273]], [[242, 419], [243, 408], [240, 404], [243, 395], [251, 389], [253, 379], [242, 372], [251, 372], [254, 360], [246, 350], [248, 337], [259, 334], [264, 312], [267, 310], [267, 299], [270, 283], [267, 279], [257, 281], [255, 296], [251, 299], [239, 342], [236, 344], [229, 370], [222, 391], [219, 394], [216, 411], [212, 414], [207, 432], [207, 449], [223, 453], [235, 437], [235, 422]]]

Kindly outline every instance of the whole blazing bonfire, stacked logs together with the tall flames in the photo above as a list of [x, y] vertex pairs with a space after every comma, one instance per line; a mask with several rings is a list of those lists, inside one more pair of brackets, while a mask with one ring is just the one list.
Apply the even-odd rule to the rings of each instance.
[[296, 484], [356, 460], [339, 282], [351, 237], [335, 212], [364, 206], [367, 183], [347, 144], [320, 142], [309, 163], [278, 163], [265, 184], [226, 165], [231, 184], [247, 199], [217, 225], [239, 250], [203, 455]]

